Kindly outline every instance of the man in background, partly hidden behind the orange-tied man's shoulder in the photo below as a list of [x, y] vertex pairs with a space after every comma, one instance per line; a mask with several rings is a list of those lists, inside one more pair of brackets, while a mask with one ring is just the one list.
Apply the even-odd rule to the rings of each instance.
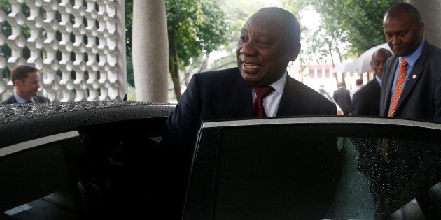
[[374, 69], [375, 78], [358, 90], [352, 98], [351, 115], [379, 115], [381, 78], [386, 60], [392, 52], [381, 48], [372, 54], [370, 66]]

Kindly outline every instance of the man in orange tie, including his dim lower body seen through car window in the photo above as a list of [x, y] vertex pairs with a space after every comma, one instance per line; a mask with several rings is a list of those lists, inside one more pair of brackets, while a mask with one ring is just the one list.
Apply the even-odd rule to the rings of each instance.
[[[441, 50], [424, 39], [419, 11], [397, 3], [386, 12], [383, 25], [394, 55], [384, 67], [380, 115], [441, 122]], [[427, 152], [403, 140], [381, 140], [371, 186], [377, 217], [388, 217], [416, 198], [427, 219], [440, 219], [431, 216], [436, 207], [428, 202], [439, 171], [427, 170], [429, 162], [420, 156]]]

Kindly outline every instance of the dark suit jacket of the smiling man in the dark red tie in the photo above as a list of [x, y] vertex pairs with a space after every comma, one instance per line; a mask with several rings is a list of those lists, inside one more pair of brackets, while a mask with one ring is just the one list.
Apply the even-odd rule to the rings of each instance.
[[[193, 154], [202, 121], [251, 118], [251, 99], [251, 86], [241, 78], [239, 68], [195, 74], [167, 119], [165, 138], [186, 145]], [[336, 114], [333, 103], [288, 75], [277, 116]]]

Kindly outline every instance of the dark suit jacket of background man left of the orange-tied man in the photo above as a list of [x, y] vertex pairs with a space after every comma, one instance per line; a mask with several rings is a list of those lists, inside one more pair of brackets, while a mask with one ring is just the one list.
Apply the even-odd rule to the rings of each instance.
[[351, 115], [379, 115], [381, 87], [376, 79], [370, 80], [352, 97]]

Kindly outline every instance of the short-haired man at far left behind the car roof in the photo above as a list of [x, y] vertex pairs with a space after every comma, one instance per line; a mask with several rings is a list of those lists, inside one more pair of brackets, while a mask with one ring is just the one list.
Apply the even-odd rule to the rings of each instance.
[[37, 96], [40, 88], [38, 69], [26, 65], [16, 66], [10, 73], [10, 80], [15, 87], [14, 94], [0, 104], [50, 102], [49, 98]]

